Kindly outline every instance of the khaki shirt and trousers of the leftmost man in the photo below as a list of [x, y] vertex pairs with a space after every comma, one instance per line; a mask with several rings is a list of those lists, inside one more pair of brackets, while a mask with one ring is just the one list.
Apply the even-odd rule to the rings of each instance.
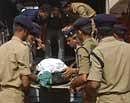
[[29, 75], [29, 49], [13, 37], [0, 47], [0, 103], [23, 103], [20, 75]]

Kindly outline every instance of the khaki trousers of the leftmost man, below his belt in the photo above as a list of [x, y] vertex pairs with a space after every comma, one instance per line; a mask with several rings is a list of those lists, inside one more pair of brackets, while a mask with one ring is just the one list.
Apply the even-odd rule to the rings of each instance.
[[18, 89], [3, 88], [0, 90], [0, 103], [24, 103], [24, 95]]

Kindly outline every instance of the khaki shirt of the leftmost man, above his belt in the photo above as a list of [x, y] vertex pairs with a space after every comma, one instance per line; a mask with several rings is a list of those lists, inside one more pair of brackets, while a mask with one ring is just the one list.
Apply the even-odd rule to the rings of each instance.
[[20, 75], [29, 74], [29, 49], [14, 36], [0, 47], [0, 85], [20, 87]]

